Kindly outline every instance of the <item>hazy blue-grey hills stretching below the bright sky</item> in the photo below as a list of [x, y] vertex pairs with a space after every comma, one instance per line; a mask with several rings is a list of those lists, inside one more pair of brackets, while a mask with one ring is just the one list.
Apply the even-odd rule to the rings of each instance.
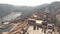
[[8, 4], [0, 4], [0, 16], [5, 16], [12, 11], [14, 12], [22, 12], [22, 17], [26, 17], [31, 15], [34, 11], [44, 11], [48, 8], [50, 13], [52, 14], [57, 14], [60, 11], [60, 2], [53, 2], [51, 4], [42, 4], [40, 6], [36, 7], [29, 7], [29, 6], [13, 6], [13, 5], [8, 5]]

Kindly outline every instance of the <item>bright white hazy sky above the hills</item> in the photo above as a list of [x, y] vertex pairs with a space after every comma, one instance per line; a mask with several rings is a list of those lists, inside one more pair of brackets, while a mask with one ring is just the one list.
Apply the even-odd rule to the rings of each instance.
[[60, 0], [0, 0], [2, 4], [12, 4], [16, 6], [37, 6], [44, 3], [51, 3]]

